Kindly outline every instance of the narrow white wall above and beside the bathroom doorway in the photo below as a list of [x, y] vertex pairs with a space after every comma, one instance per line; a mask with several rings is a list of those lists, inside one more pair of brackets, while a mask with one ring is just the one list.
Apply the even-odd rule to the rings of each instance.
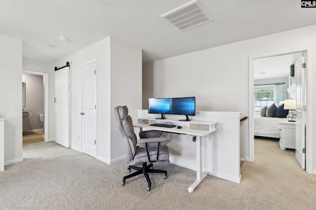
[[[48, 138], [47, 138], [49, 141], [55, 141], [55, 104], [54, 104], [54, 95], [55, 95], [54, 67], [55, 66], [56, 64], [23, 58], [23, 70], [43, 72], [43, 73], [48, 73], [49, 75], [49, 87], [48, 87], [49, 129], [48, 129]], [[21, 71], [21, 75], [22, 75], [22, 71]], [[45, 132], [45, 138], [46, 138], [46, 135], [47, 133]]]

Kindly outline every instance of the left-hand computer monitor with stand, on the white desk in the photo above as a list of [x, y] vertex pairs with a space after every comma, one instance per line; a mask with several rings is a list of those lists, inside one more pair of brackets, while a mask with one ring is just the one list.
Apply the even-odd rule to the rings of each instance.
[[172, 114], [172, 98], [149, 98], [148, 113], [161, 114], [161, 118], [165, 119], [164, 114]]

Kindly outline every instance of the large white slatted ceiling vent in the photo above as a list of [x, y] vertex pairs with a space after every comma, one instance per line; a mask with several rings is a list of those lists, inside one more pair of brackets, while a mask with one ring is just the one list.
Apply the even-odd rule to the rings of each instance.
[[198, 0], [191, 1], [160, 17], [165, 18], [179, 30], [187, 30], [213, 20]]

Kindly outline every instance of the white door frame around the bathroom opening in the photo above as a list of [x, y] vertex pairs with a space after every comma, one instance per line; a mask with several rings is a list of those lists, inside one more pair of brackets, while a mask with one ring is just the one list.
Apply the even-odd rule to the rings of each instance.
[[39, 72], [39, 71], [30, 71], [23, 70], [22, 73], [26, 74], [35, 74], [42, 75], [44, 78], [45, 86], [44, 86], [44, 141], [48, 142], [49, 138], [49, 73]]

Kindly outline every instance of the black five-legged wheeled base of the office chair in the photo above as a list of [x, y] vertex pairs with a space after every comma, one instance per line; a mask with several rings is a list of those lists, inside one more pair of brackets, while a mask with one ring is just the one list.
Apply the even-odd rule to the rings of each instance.
[[149, 179], [148, 173], [160, 173], [160, 174], [164, 174], [164, 179], [167, 179], [167, 171], [163, 171], [163, 170], [157, 170], [157, 169], [153, 169], [153, 163], [147, 165], [147, 163], [143, 163], [143, 167], [137, 167], [137, 166], [128, 166], [128, 171], [130, 171], [130, 169], [134, 169], [137, 170], [136, 172], [134, 172], [133, 174], [129, 174], [125, 177], [123, 177], [123, 182], [122, 185], [125, 185], [125, 180], [131, 177], [135, 177], [137, 175], [143, 174], [148, 182], [148, 187], [147, 187], [147, 191], [150, 191], [150, 188], [152, 186], [152, 182]]

